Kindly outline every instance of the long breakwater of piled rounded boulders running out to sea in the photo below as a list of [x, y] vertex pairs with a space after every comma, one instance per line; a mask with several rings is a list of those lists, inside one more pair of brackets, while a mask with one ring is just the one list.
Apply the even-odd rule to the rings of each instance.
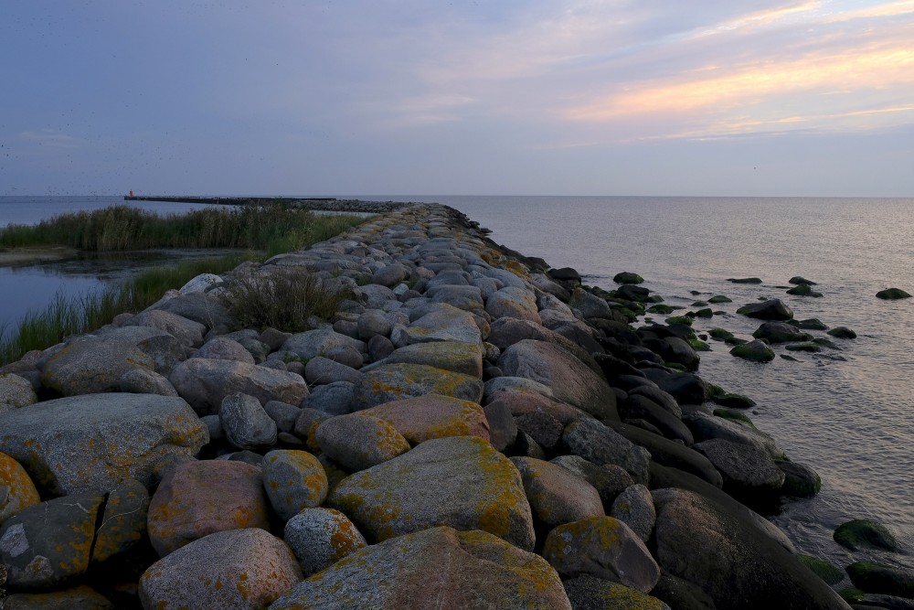
[[817, 477], [643, 289], [435, 205], [233, 273], [290, 268], [351, 298], [233, 330], [201, 276], [0, 369], [5, 608], [849, 607], [750, 508]]

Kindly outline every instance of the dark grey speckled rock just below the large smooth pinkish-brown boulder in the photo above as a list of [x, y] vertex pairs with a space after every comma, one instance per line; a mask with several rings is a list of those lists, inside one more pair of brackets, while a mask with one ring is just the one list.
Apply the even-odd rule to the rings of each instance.
[[597, 465], [622, 466], [636, 483], [647, 482], [651, 454], [596, 420], [580, 419], [569, 423], [562, 435], [562, 444], [570, 454], [580, 455]]

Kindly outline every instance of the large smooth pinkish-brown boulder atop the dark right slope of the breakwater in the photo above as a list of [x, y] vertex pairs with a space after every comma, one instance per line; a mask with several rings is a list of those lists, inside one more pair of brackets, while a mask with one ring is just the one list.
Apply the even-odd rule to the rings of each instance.
[[539, 381], [568, 402], [599, 419], [619, 420], [609, 384], [563, 348], [533, 339], [518, 341], [498, 359], [505, 375]]

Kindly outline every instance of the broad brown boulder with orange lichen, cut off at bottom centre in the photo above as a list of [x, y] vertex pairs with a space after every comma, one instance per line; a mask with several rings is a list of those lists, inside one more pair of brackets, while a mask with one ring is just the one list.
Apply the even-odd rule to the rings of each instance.
[[367, 547], [297, 585], [270, 610], [571, 610], [558, 574], [484, 531], [441, 527]]

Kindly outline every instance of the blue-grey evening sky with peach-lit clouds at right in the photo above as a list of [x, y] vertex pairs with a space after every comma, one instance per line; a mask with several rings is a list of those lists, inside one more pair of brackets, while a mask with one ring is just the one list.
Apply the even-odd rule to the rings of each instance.
[[3, 0], [0, 195], [914, 197], [914, 0]]

